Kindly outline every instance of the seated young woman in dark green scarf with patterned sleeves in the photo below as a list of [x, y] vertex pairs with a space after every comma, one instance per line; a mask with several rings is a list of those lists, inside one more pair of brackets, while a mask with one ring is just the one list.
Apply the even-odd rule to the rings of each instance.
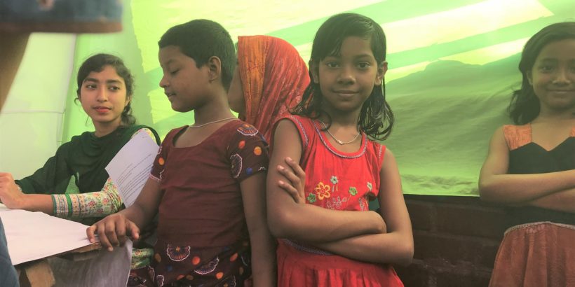
[[77, 77], [78, 101], [94, 124], [62, 144], [31, 176], [14, 181], [0, 173], [0, 201], [11, 209], [42, 211], [91, 224], [122, 208], [116, 185], [104, 169], [134, 134], [150, 127], [135, 125], [130, 102], [134, 80], [122, 59], [98, 54], [86, 59]]

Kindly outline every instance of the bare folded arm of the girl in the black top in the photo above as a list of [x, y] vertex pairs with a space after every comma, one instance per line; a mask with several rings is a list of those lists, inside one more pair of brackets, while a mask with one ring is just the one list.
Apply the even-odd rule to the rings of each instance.
[[575, 169], [546, 174], [507, 174], [508, 166], [509, 150], [500, 127], [492, 137], [481, 168], [479, 193], [482, 200], [521, 204], [575, 188]]

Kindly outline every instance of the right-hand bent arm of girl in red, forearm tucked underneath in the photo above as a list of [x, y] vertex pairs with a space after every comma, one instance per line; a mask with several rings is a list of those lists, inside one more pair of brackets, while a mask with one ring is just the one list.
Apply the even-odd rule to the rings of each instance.
[[379, 206], [388, 233], [359, 235], [317, 247], [355, 260], [409, 265], [414, 244], [410, 216], [401, 191], [401, 180], [395, 158], [387, 150], [381, 167]]

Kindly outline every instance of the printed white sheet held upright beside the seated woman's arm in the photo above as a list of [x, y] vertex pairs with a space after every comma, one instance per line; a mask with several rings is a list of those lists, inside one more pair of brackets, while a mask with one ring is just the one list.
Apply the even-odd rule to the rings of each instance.
[[106, 167], [111, 180], [116, 183], [126, 207], [132, 205], [144, 187], [151, 165], [158, 153], [158, 145], [149, 134], [140, 131], [116, 153]]

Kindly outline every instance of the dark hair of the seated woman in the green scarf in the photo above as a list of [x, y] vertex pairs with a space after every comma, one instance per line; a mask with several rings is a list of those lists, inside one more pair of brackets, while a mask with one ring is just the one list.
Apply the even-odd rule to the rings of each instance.
[[[126, 67], [122, 59], [114, 55], [109, 54], [97, 54], [90, 56], [86, 61], [82, 63], [80, 69], [78, 69], [78, 77], [76, 81], [78, 82], [78, 89], [76, 94], [80, 96], [80, 90], [82, 88], [82, 83], [88, 75], [92, 72], [101, 72], [104, 67], [111, 66], [116, 70], [118, 76], [120, 76], [124, 83], [126, 84], [126, 97], [132, 99], [134, 94], [134, 77], [130, 72], [130, 69]], [[121, 125], [134, 125], [136, 123], [136, 118], [132, 116], [132, 101], [130, 101], [121, 115]]]

